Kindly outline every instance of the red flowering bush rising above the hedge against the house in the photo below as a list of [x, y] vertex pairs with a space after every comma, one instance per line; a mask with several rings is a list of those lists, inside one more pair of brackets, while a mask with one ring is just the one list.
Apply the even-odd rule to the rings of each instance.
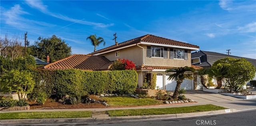
[[135, 63], [126, 59], [117, 59], [110, 70], [136, 70]]

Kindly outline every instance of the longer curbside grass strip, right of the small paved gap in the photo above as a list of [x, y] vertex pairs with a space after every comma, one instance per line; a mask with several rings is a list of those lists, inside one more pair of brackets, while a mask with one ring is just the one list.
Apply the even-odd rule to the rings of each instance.
[[150, 109], [129, 109], [129, 110], [109, 110], [110, 116], [143, 116], [143, 115], [160, 115], [160, 114], [177, 114], [190, 112], [204, 112], [213, 110], [226, 109], [221, 106], [212, 104], [188, 106], [188, 107], [174, 107], [174, 108], [150, 108]]

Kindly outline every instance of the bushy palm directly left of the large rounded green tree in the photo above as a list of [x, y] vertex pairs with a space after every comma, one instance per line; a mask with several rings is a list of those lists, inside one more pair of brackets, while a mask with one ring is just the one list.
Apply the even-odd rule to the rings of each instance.
[[216, 87], [216, 89], [220, 89], [222, 87], [222, 80], [226, 77], [227, 74], [227, 68], [225, 66], [222, 66], [221, 64], [217, 64], [216, 67], [210, 68], [210, 76], [217, 80], [218, 86]]

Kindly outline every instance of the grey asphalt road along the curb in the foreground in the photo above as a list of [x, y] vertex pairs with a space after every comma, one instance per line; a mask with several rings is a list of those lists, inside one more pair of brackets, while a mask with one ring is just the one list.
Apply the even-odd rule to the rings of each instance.
[[[20, 126], [256, 126], [256, 110], [164, 120], [134, 120], [125, 122], [83, 124], [35, 124]], [[10, 125], [11, 126], [11, 125]], [[17, 125], [16, 125], [17, 126]]]

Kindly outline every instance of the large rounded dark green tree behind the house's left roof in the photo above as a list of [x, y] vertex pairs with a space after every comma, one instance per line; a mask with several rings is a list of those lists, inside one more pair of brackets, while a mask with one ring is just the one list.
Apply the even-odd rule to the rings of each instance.
[[71, 47], [64, 40], [52, 35], [50, 38], [38, 38], [34, 45], [29, 46], [29, 54], [37, 56], [46, 61], [46, 56], [50, 56], [50, 63], [66, 58], [71, 55]]

